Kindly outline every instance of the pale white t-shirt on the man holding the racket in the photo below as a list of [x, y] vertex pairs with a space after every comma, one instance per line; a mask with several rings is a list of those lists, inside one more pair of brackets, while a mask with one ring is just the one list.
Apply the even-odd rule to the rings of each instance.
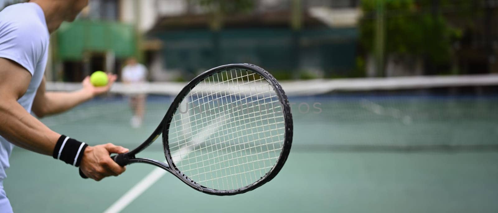
[[[36, 3], [17, 3], [0, 11], [0, 58], [10, 59], [31, 73], [31, 81], [24, 95], [17, 102], [31, 113], [36, 90], [40, 85], [47, 64], [48, 32], [45, 15]], [[0, 136], [0, 179], [13, 144]]]

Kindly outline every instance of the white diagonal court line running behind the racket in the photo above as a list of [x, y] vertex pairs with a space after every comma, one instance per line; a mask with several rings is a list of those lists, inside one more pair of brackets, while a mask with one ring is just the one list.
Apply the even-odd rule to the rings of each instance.
[[[206, 141], [211, 134], [216, 132], [221, 126], [223, 126], [226, 123], [225, 115], [221, 116], [220, 118], [215, 119], [214, 121], [217, 121], [221, 119], [222, 123], [221, 125], [217, 125], [216, 129], [211, 129], [210, 126], [213, 124], [216, 124], [216, 122], [212, 122], [211, 125], [207, 126], [204, 129], [207, 130], [202, 130], [198, 135], [204, 136], [203, 140], [193, 140], [193, 146], [187, 146], [184, 148], [181, 148], [180, 150], [173, 152], [171, 156], [173, 156], [173, 162], [177, 162], [181, 159], [182, 155], [179, 155], [178, 153], [188, 153], [192, 151], [197, 145], [200, 143]], [[213, 131], [211, 134], [209, 134], [210, 131]], [[185, 155], [184, 155], [185, 156]], [[185, 156], [186, 157], [186, 156]], [[176, 159], [175, 159], [176, 158]], [[180, 159], [178, 159], [180, 158]], [[164, 163], [167, 163], [164, 161]], [[135, 186], [133, 186], [131, 189], [129, 189], [126, 193], [124, 193], [123, 196], [121, 196], [120, 199], [118, 199], [116, 202], [114, 202], [113, 205], [111, 205], [109, 208], [107, 208], [104, 213], [119, 213], [121, 212], [124, 208], [126, 208], [131, 202], [133, 202], [138, 196], [140, 196], [145, 190], [150, 188], [152, 184], [157, 182], [162, 176], [166, 174], [166, 170], [161, 169], [161, 168], [155, 168], [150, 172], [147, 176], [145, 176], [140, 182], [138, 182]]]

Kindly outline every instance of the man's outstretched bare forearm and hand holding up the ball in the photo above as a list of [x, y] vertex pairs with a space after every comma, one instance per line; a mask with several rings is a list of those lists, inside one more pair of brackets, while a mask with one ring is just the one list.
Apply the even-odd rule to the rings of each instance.
[[32, 111], [38, 117], [53, 115], [67, 111], [94, 96], [107, 92], [116, 80], [116, 75], [110, 74], [109, 83], [106, 86], [95, 87], [87, 77], [83, 80], [83, 88], [74, 92], [48, 92], [45, 91], [45, 78], [36, 92]]

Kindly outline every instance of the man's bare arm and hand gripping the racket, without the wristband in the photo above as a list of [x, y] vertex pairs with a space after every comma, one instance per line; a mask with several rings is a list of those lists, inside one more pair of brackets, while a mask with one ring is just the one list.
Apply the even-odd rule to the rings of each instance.
[[[0, 135], [17, 146], [52, 155], [61, 135], [50, 130], [17, 102], [26, 92], [30, 80], [31, 74], [23, 67], [0, 58]], [[94, 180], [119, 175], [124, 172], [124, 168], [114, 162], [109, 154], [126, 151], [126, 148], [111, 143], [88, 146], [80, 168]]]

